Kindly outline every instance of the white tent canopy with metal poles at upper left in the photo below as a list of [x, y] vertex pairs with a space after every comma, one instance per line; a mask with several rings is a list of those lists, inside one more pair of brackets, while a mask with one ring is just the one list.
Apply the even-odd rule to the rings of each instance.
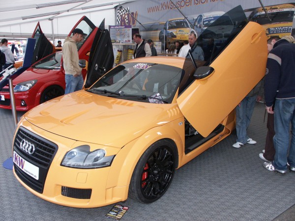
[[115, 7], [136, 0], [0, 0], [0, 39], [31, 37], [40, 22], [46, 37], [54, 43], [65, 38], [82, 16], [94, 25], [116, 25]]

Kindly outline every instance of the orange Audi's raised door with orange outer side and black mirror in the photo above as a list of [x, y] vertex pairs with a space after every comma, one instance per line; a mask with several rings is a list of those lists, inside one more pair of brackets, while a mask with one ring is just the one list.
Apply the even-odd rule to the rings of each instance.
[[[265, 30], [257, 23], [247, 23], [240, 6], [226, 15], [235, 25], [230, 31], [226, 28], [224, 42], [214, 45], [205, 66], [198, 67], [195, 72], [197, 78], [207, 77], [192, 79], [179, 91], [177, 98], [181, 112], [203, 137], [207, 137], [236, 108], [266, 72]], [[222, 23], [219, 28], [223, 28]], [[217, 36], [214, 30], [216, 26], [212, 30], [209, 26], [198, 37], [198, 44], [204, 52], [208, 40], [213, 38], [216, 42], [220, 36], [220, 32]]]

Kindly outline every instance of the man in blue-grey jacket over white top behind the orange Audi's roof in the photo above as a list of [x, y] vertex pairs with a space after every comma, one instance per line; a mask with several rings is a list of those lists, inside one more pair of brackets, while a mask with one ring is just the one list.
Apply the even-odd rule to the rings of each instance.
[[191, 53], [195, 60], [204, 60], [203, 49], [197, 45], [197, 35], [195, 33], [190, 33], [188, 35], [188, 45], [182, 46], [179, 51], [178, 57], [189, 57], [188, 51]]

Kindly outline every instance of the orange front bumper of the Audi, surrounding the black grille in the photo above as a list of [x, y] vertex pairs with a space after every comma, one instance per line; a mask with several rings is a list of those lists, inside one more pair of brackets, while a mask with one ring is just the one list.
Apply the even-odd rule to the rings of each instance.
[[[54, 141], [57, 148], [52, 154], [52, 160], [48, 166], [35, 164], [34, 161], [30, 160], [31, 156], [27, 156], [29, 154], [18, 147], [15, 139], [19, 139], [18, 131], [20, 126], [24, 129], [23, 131], [29, 133], [29, 137], [34, 136], [33, 138], [38, 142], [41, 139], [42, 142], [47, 144], [53, 143]], [[34, 131], [34, 133], [30, 131]], [[29, 140], [29, 138], [25, 139]], [[29, 140], [29, 142], [33, 141]], [[128, 186], [107, 188], [111, 166], [94, 169], [60, 166], [64, 155], [69, 149], [75, 147], [76, 144], [76, 140], [49, 133], [35, 127], [26, 120], [21, 121], [16, 130], [13, 142], [14, 175], [31, 193], [44, 200], [64, 206], [93, 208], [125, 200], [127, 198]], [[18, 163], [19, 159], [22, 159], [23, 164]], [[39, 171], [39, 174], [37, 174], [37, 178], [39, 180], [28, 175], [29, 173], [36, 174], [35, 171], [28, 172], [28, 169], [25, 169], [27, 171], [25, 172], [25, 170], [21, 169], [22, 165], [32, 164], [38, 167], [37, 171]], [[35, 183], [38, 183], [38, 188], [34, 187]]]

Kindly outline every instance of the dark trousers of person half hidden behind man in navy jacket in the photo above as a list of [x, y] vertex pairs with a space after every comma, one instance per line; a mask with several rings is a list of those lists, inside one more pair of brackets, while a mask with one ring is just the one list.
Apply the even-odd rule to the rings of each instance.
[[267, 114], [267, 135], [266, 135], [266, 147], [264, 158], [270, 162], [274, 160], [275, 149], [273, 145], [274, 132], [274, 114]]

